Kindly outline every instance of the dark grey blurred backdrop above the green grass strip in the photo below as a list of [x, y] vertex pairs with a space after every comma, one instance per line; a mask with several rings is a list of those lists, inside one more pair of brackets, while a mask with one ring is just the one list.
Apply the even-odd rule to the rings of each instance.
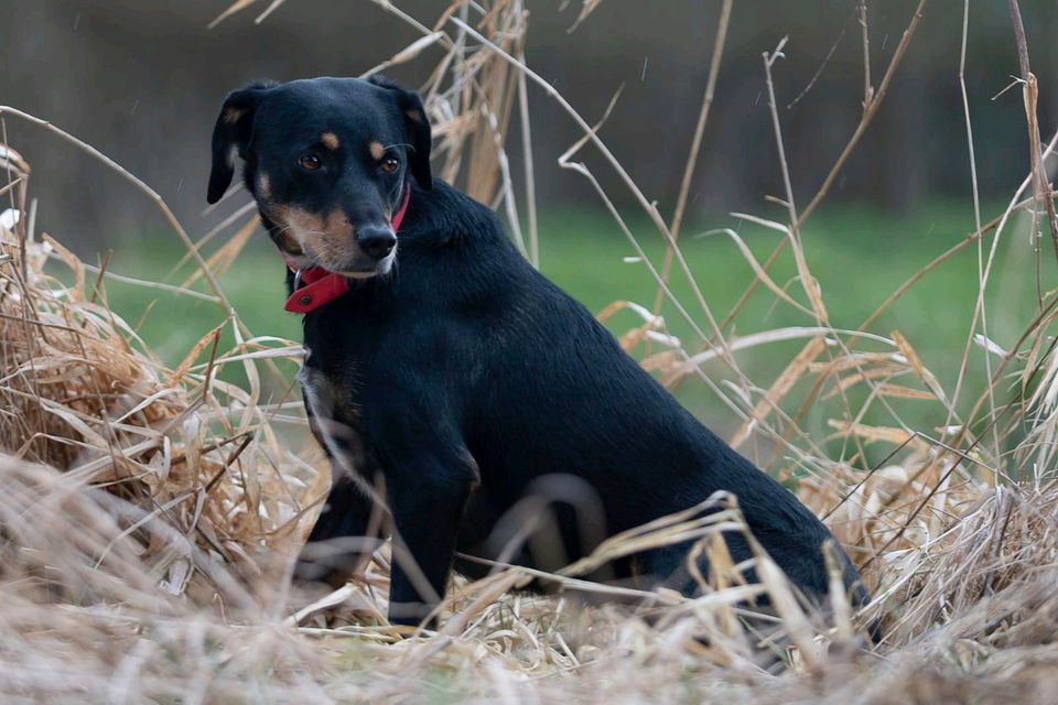
[[[358, 75], [417, 39], [374, 3], [347, 0], [288, 0], [255, 24], [269, 4], [258, 2], [207, 29], [229, 4], [6, 0], [0, 3], [0, 98], [115, 158], [193, 224], [204, 206], [209, 132], [227, 91], [261, 77]], [[565, 4], [570, 7], [563, 9]], [[868, 3], [875, 86], [916, 4]], [[1025, 171], [1021, 94], [1011, 90], [992, 99], [1017, 75], [1017, 57], [1006, 2], [970, 4], [967, 83], [981, 189], [1000, 197]], [[862, 113], [857, 6], [859, 0], [735, 3], [692, 192], [693, 212], [745, 210], [757, 207], [763, 194], [779, 193], [760, 54], [784, 36], [789, 42], [775, 70], [777, 98], [796, 193], [811, 195]], [[843, 171], [831, 203], [906, 212], [969, 193], [958, 85], [962, 6], [954, 0], [927, 4], [870, 139]], [[1021, 6], [1041, 79], [1040, 123], [1049, 126], [1058, 111], [1058, 91], [1048, 90], [1052, 84], [1046, 83], [1058, 70], [1052, 41], [1058, 6], [1052, 0], [1023, 0]], [[400, 7], [427, 20], [439, 17], [446, 3], [409, 0]], [[670, 210], [701, 104], [720, 2], [605, 0], [573, 32], [580, 3], [538, 0], [529, 10], [529, 64], [589, 121], [624, 86], [603, 137], [644, 192], [659, 200], [662, 212]], [[434, 46], [390, 73], [418, 86], [441, 54]], [[579, 137], [576, 127], [542, 91], [531, 90], [541, 204], [600, 207], [582, 178], [554, 163]], [[37, 180], [35, 194], [42, 202], [63, 200], [62, 208], [42, 209], [46, 230], [99, 243], [142, 234], [152, 224], [153, 208], [90, 160], [36, 130], [8, 129], [12, 144], [37, 173], [46, 174]], [[511, 159], [519, 159], [519, 150], [511, 150]]]

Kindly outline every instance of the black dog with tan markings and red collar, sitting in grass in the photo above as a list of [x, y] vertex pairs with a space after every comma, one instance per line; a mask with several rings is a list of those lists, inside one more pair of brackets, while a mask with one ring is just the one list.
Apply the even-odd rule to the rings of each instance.
[[[332, 459], [300, 574], [344, 581], [389, 528], [390, 618], [413, 623], [444, 595], [457, 550], [554, 571], [727, 490], [792, 582], [822, 598], [823, 524], [533, 270], [490, 210], [433, 180], [430, 141], [419, 97], [379, 78], [252, 85], [217, 119], [209, 203], [231, 183], [237, 150], [288, 262], [288, 310], [305, 314], [301, 381]], [[371, 499], [377, 477], [391, 521]], [[313, 551], [343, 538], [338, 555]], [[728, 546], [735, 561], [752, 555], [741, 535]], [[598, 576], [689, 594], [690, 547], [616, 560]]]

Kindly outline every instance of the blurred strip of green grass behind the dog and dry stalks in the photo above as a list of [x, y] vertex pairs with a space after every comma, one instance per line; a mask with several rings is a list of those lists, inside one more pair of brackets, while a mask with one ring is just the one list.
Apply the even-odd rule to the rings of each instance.
[[[1002, 204], [987, 204], [983, 218], [1001, 213]], [[776, 219], [781, 216], [776, 214]], [[870, 206], [828, 206], [809, 220], [802, 231], [806, 258], [823, 292], [831, 323], [839, 328], [856, 328], [886, 296], [936, 256], [962, 240], [973, 230], [973, 210], [969, 203], [936, 202], [925, 208], [894, 215]], [[646, 220], [633, 220], [631, 228], [648, 256], [660, 268], [663, 242]], [[702, 235], [717, 228], [735, 229], [759, 261], [764, 261], [780, 239], [780, 234], [741, 221], [733, 216], [701, 218], [684, 228], [682, 249], [713, 315], [723, 318], [753, 279], [753, 271], [734, 242], [724, 235]], [[657, 286], [641, 262], [628, 262], [635, 251], [618, 227], [605, 215], [586, 212], [548, 213], [540, 227], [541, 270], [559, 285], [597, 313], [615, 300], [629, 300], [652, 306]], [[985, 239], [985, 254], [992, 239]], [[1045, 242], [1049, 248], [1049, 242]], [[141, 279], [160, 280], [183, 253], [175, 236], [126, 238], [115, 253], [110, 269]], [[1052, 269], [1054, 254], [1044, 250], [1045, 278]], [[90, 258], [89, 258], [90, 261]], [[989, 335], [1001, 347], [1012, 345], [1036, 310], [1035, 256], [1024, 216], [1013, 218], [997, 250], [989, 286]], [[184, 268], [170, 283], [180, 283], [191, 268]], [[458, 272], [453, 272], [458, 276]], [[796, 281], [796, 269], [789, 250], [771, 271], [773, 279], [798, 301], [803, 291]], [[1045, 279], [1046, 281], [1046, 279]], [[235, 264], [222, 278], [227, 295], [242, 319], [256, 335], [273, 335], [300, 339], [299, 317], [283, 312], [283, 264], [263, 232], [255, 234]], [[203, 290], [202, 284], [196, 289]], [[672, 288], [695, 322], [706, 332], [708, 319], [695, 302], [683, 275], [673, 269]], [[140, 333], [154, 352], [169, 364], [179, 361], [212, 327], [224, 319], [219, 307], [187, 297], [160, 295], [148, 290], [117, 282], [107, 282], [107, 300], [111, 307], [136, 325], [152, 301], [153, 305], [140, 326]], [[953, 257], [919, 282], [872, 330], [888, 335], [899, 329], [915, 346], [922, 360], [949, 391], [962, 358], [970, 330], [971, 315], [978, 295], [978, 250], [975, 246]], [[688, 349], [699, 349], [692, 328], [681, 321], [671, 306], [663, 310], [670, 330]], [[631, 313], [620, 313], [607, 325], [623, 333], [641, 321]], [[811, 326], [814, 321], [778, 302], [763, 286], [747, 302], [735, 319], [738, 335], [785, 326]], [[739, 366], [758, 387], [767, 388], [806, 340], [778, 343], [739, 352]], [[231, 344], [229, 335], [222, 349]], [[872, 347], [860, 344], [860, 347]], [[881, 349], [874, 346], [873, 349]], [[970, 371], [983, 388], [983, 351], [971, 352]], [[994, 358], [997, 360], [998, 358]], [[705, 367], [711, 379], [730, 379], [722, 362]], [[238, 366], [225, 371], [238, 380]], [[914, 381], [897, 380], [916, 386]], [[273, 383], [273, 392], [282, 393]], [[860, 384], [857, 388], [862, 388]], [[971, 386], [972, 387], [972, 386]], [[863, 399], [863, 390], [850, 390], [853, 404]], [[969, 389], [969, 388], [968, 388]], [[969, 391], [973, 391], [972, 389]], [[737, 419], [698, 379], [690, 379], [676, 390], [677, 395], [695, 414], [721, 430], [733, 429]], [[795, 399], [796, 395], [791, 397]], [[972, 399], [964, 397], [964, 403]], [[855, 406], [853, 406], [855, 408]], [[902, 401], [902, 416], [909, 423], [933, 427], [944, 422], [937, 405], [920, 401]], [[825, 416], [832, 411], [820, 409], [818, 424], [825, 433]], [[876, 411], [867, 421], [893, 425], [892, 419]]]

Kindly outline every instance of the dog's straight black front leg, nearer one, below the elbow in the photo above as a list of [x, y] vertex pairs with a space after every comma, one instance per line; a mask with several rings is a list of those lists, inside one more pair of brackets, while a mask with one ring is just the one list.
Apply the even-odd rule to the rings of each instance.
[[393, 514], [389, 620], [418, 625], [444, 597], [460, 521], [473, 478], [435, 462], [404, 465], [387, 477]]

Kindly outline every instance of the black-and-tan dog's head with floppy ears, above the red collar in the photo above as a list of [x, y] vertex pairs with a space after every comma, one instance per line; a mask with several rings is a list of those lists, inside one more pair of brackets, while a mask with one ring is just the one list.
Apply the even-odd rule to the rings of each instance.
[[430, 123], [414, 93], [380, 78], [253, 84], [224, 101], [207, 199], [231, 184], [234, 155], [276, 245], [302, 267], [385, 274], [407, 183], [431, 187]]

